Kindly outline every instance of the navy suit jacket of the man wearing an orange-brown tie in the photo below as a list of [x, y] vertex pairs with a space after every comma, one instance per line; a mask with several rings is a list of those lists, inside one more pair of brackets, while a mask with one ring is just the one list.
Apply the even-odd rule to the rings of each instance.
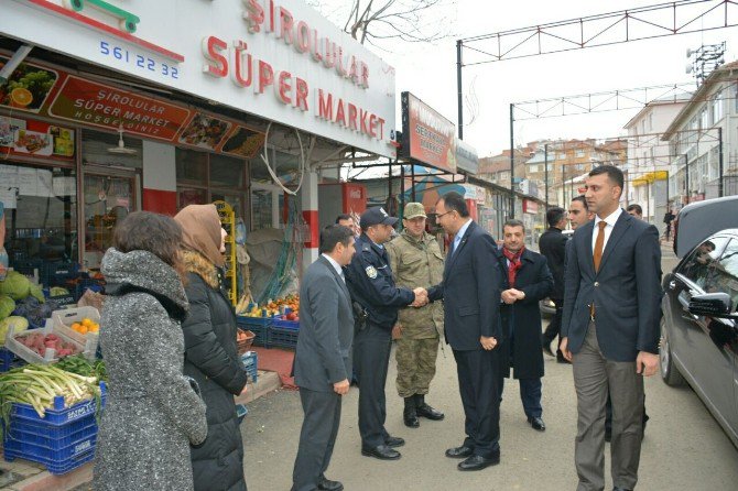
[[652, 225], [621, 211], [595, 272], [595, 220], [576, 229], [567, 248], [562, 338], [577, 353], [595, 303], [597, 341], [608, 360], [634, 361], [639, 351], [659, 352], [661, 246]]

